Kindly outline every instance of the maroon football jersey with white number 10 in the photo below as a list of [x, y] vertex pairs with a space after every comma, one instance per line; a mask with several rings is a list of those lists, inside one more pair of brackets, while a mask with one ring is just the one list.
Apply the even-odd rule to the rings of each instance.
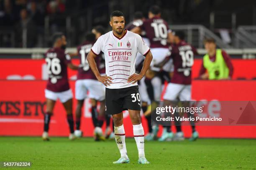
[[151, 48], [168, 48], [167, 37], [168, 32], [171, 30], [165, 20], [160, 17], [154, 17], [145, 20], [140, 28], [146, 32]]

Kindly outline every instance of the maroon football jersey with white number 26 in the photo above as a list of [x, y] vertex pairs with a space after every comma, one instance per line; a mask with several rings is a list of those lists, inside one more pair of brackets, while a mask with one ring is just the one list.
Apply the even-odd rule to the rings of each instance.
[[71, 62], [70, 56], [61, 48], [51, 48], [45, 54], [45, 61], [49, 75], [46, 89], [53, 92], [69, 90], [67, 64]]

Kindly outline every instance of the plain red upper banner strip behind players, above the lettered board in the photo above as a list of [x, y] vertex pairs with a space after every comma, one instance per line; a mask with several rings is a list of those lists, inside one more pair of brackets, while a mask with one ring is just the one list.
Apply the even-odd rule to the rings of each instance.
[[[73, 59], [73, 63], [78, 64], [79, 60]], [[233, 79], [245, 78], [252, 79], [256, 77], [256, 60], [242, 60], [233, 59], [234, 66]], [[202, 60], [195, 59], [192, 67], [192, 77], [198, 77]], [[31, 59], [0, 59], [0, 79], [13, 79], [18, 78], [20, 80], [45, 80], [46, 75], [46, 64], [44, 60], [31, 60]], [[74, 70], [68, 71], [69, 78], [74, 78], [77, 72]]]

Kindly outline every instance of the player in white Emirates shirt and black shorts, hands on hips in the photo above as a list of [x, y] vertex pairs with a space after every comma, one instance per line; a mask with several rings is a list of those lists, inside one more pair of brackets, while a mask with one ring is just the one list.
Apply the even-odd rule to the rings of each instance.
[[[110, 26], [112, 31], [99, 37], [87, 60], [97, 80], [106, 86], [106, 113], [113, 117], [115, 141], [121, 154], [121, 158], [113, 163], [130, 163], [123, 127], [123, 110], [128, 110], [138, 148], [138, 163], [146, 164], [149, 162], [144, 153], [144, 130], [140, 117], [141, 99], [137, 81], [145, 75], [153, 57], [140, 35], [124, 29], [125, 18], [122, 12], [111, 13]], [[101, 51], [105, 54], [107, 76], [100, 75], [94, 60]], [[137, 52], [146, 57], [140, 74], [135, 74]]]

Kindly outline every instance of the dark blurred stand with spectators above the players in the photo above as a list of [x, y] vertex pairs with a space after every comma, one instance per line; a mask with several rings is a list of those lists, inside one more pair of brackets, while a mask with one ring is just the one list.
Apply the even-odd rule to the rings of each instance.
[[0, 46], [49, 47], [51, 35], [61, 31], [74, 47], [95, 25], [107, 28], [111, 11], [123, 11], [128, 23], [136, 11], [147, 17], [151, 4], [170, 25], [204, 25], [236, 47], [237, 26], [256, 24], [254, 0], [243, 1], [243, 8], [229, 0], [0, 0]]

